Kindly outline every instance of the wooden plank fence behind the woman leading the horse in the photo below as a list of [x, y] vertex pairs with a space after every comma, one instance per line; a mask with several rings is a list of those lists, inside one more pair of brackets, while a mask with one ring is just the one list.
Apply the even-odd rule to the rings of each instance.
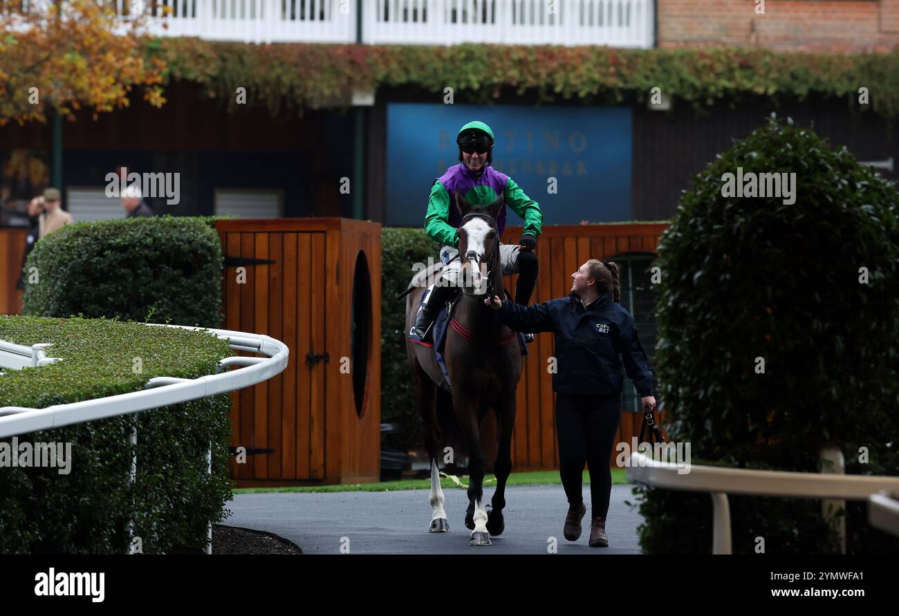
[[[619, 225], [558, 225], [543, 228], [537, 254], [540, 273], [531, 303], [562, 298], [571, 290], [571, 274], [588, 259], [607, 259], [629, 252], [655, 253], [664, 223]], [[515, 244], [521, 227], [506, 228], [503, 243]], [[517, 276], [507, 277], [506, 288], [514, 292]], [[530, 354], [525, 358], [525, 371], [518, 387], [518, 409], [512, 435], [512, 464], [515, 470], [557, 469], [555, 404], [552, 375], [547, 359], [553, 354], [553, 334], [535, 336]], [[627, 377], [626, 387], [629, 386]], [[658, 414], [656, 414], [658, 418]], [[639, 436], [643, 416], [626, 410], [621, 415], [615, 442], [631, 442]], [[482, 445], [488, 465], [493, 466], [496, 437], [494, 415], [487, 416]], [[610, 464], [615, 466], [616, 452]]]

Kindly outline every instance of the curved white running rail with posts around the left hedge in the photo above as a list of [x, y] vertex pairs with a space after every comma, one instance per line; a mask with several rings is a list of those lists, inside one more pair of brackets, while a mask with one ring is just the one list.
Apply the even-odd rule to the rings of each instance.
[[[143, 391], [132, 391], [119, 396], [96, 398], [47, 408], [26, 408], [22, 406], [0, 407], [0, 438], [31, 433], [36, 430], [48, 430], [63, 425], [81, 424], [96, 419], [106, 419], [119, 415], [130, 415], [160, 406], [169, 406], [196, 400], [201, 397], [215, 396], [236, 389], [242, 389], [261, 383], [263, 380], [280, 374], [287, 368], [289, 350], [286, 344], [267, 335], [246, 334], [227, 329], [211, 329], [206, 327], [173, 326], [149, 323], [149, 326], [179, 327], [194, 331], [209, 331], [219, 338], [227, 340], [235, 351], [260, 353], [268, 357], [245, 357], [234, 355], [218, 362], [218, 370], [226, 370], [199, 379], [178, 379], [175, 377], [155, 377], [148, 379]], [[24, 367], [40, 367], [52, 362], [64, 361], [60, 358], [47, 357], [46, 349], [50, 344], [7, 343], [0, 340], [0, 369], [20, 370]], [[227, 370], [230, 366], [243, 366], [240, 370]], [[0, 372], [0, 379], [3, 372]], [[138, 432], [131, 433], [132, 444], [138, 442]], [[138, 460], [132, 460], [129, 480], [133, 483], [137, 476]], [[207, 465], [212, 473], [211, 444], [207, 452]], [[129, 527], [133, 527], [129, 523]], [[212, 553], [212, 522], [207, 527], [206, 553]], [[133, 547], [133, 546], [132, 546]], [[130, 551], [129, 553], [133, 553]]]

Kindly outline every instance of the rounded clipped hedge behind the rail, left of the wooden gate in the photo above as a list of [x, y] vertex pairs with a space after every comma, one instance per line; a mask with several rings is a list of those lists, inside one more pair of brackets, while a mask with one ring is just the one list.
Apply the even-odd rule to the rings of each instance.
[[[25, 265], [22, 312], [216, 327], [222, 254], [210, 219], [135, 218], [67, 225]], [[37, 283], [31, 274], [36, 268]]]

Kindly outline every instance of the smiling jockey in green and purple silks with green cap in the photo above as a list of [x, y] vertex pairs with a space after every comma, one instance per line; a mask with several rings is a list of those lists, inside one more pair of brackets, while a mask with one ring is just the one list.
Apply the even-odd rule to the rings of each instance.
[[[461, 215], [452, 197], [456, 192], [475, 207], [485, 207], [496, 201], [502, 194], [503, 207], [496, 217], [497, 232], [502, 235], [505, 228], [508, 205], [521, 219], [524, 228], [517, 245], [500, 245], [500, 262], [503, 276], [519, 274], [515, 286], [515, 303], [527, 306], [534, 285], [537, 283], [539, 263], [534, 248], [543, 225], [543, 212], [539, 203], [530, 199], [511, 177], [496, 171], [493, 162], [494, 131], [484, 122], [468, 122], [458, 131], [458, 165], [434, 180], [428, 213], [424, 217], [424, 230], [432, 240], [441, 244], [441, 280], [437, 281], [423, 308], [415, 317], [414, 333], [424, 338], [431, 326], [434, 315], [442, 304], [452, 299], [456, 291], [461, 263], [458, 259], [458, 225]], [[527, 334], [530, 343], [534, 336]]]

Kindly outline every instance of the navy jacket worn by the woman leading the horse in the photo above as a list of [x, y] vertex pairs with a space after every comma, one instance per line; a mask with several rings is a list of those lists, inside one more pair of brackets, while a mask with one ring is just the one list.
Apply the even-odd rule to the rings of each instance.
[[587, 308], [571, 293], [525, 308], [508, 299], [498, 310], [521, 332], [556, 333], [553, 389], [563, 394], [620, 394], [621, 359], [640, 396], [653, 395], [653, 372], [637, 337], [634, 318], [607, 291]]

